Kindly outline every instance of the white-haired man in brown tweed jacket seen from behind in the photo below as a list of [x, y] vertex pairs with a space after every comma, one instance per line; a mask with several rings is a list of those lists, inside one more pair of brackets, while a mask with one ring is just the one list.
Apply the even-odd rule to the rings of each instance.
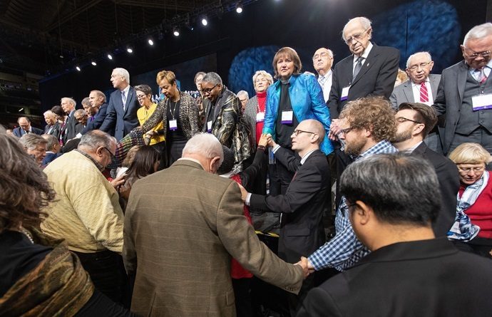
[[123, 259], [135, 276], [134, 313], [235, 316], [231, 256], [260, 279], [299, 291], [307, 260], [287, 264], [258, 240], [236, 182], [213, 175], [222, 160], [217, 138], [200, 133], [171, 167], [133, 185]]

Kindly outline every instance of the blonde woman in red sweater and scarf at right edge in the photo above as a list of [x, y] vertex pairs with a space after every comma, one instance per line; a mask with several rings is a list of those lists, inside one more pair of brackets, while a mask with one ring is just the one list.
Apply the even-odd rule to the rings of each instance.
[[[456, 246], [492, 259], [492, 180], [486, 170], [492, 156], [477, 143], [463, 143], [451, 152], [449, 158], [458, 167], [461, 182], [457, 212], [462, 210], [470, 218], [474, 227], [472, 232], [478, 229], [476, 226], [480, 227], [476, 237], [466, 242], [458, 240]], [[451, 232], [457, 226], [455, 224]]]

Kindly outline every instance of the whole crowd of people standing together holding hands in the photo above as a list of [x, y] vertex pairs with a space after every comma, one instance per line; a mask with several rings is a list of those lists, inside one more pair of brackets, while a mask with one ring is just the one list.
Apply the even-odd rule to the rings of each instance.
[[372, 33], [317, 75], [280, 48], [252, 98], [115, 68], [0, 130], [0, 316], [488, 315], [492, 24], [441, 75]]

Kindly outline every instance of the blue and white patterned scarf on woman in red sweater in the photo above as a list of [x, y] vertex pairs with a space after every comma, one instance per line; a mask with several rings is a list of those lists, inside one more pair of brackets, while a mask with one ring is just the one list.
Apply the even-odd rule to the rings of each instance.
[[485, 171], [483, 172], [482, 177], [480, 177], [480, 180], [477, 180], [472, 185], [466, 187], [461, 198], [458, 193], [456, 197], [458, 200], [458, 203], [456, 204], [456, 217], [454, 218], [453, 227], [449, 229], [448, 239], [470, 241], [476, 237], [480, 231], [480, 227], [471, 223], [470, 217], [465, 214], [465, 210], [475, 204], [476, 199], [487, 186], [487, 183], [488, 172]]

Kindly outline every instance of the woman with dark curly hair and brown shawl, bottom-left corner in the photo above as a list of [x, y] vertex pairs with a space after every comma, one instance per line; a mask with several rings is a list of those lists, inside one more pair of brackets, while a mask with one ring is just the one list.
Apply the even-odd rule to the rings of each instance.
[[39, 224], [55, 192], [0, 127], [0, 316], [133, 316], [96, 291], [63, 240]]

